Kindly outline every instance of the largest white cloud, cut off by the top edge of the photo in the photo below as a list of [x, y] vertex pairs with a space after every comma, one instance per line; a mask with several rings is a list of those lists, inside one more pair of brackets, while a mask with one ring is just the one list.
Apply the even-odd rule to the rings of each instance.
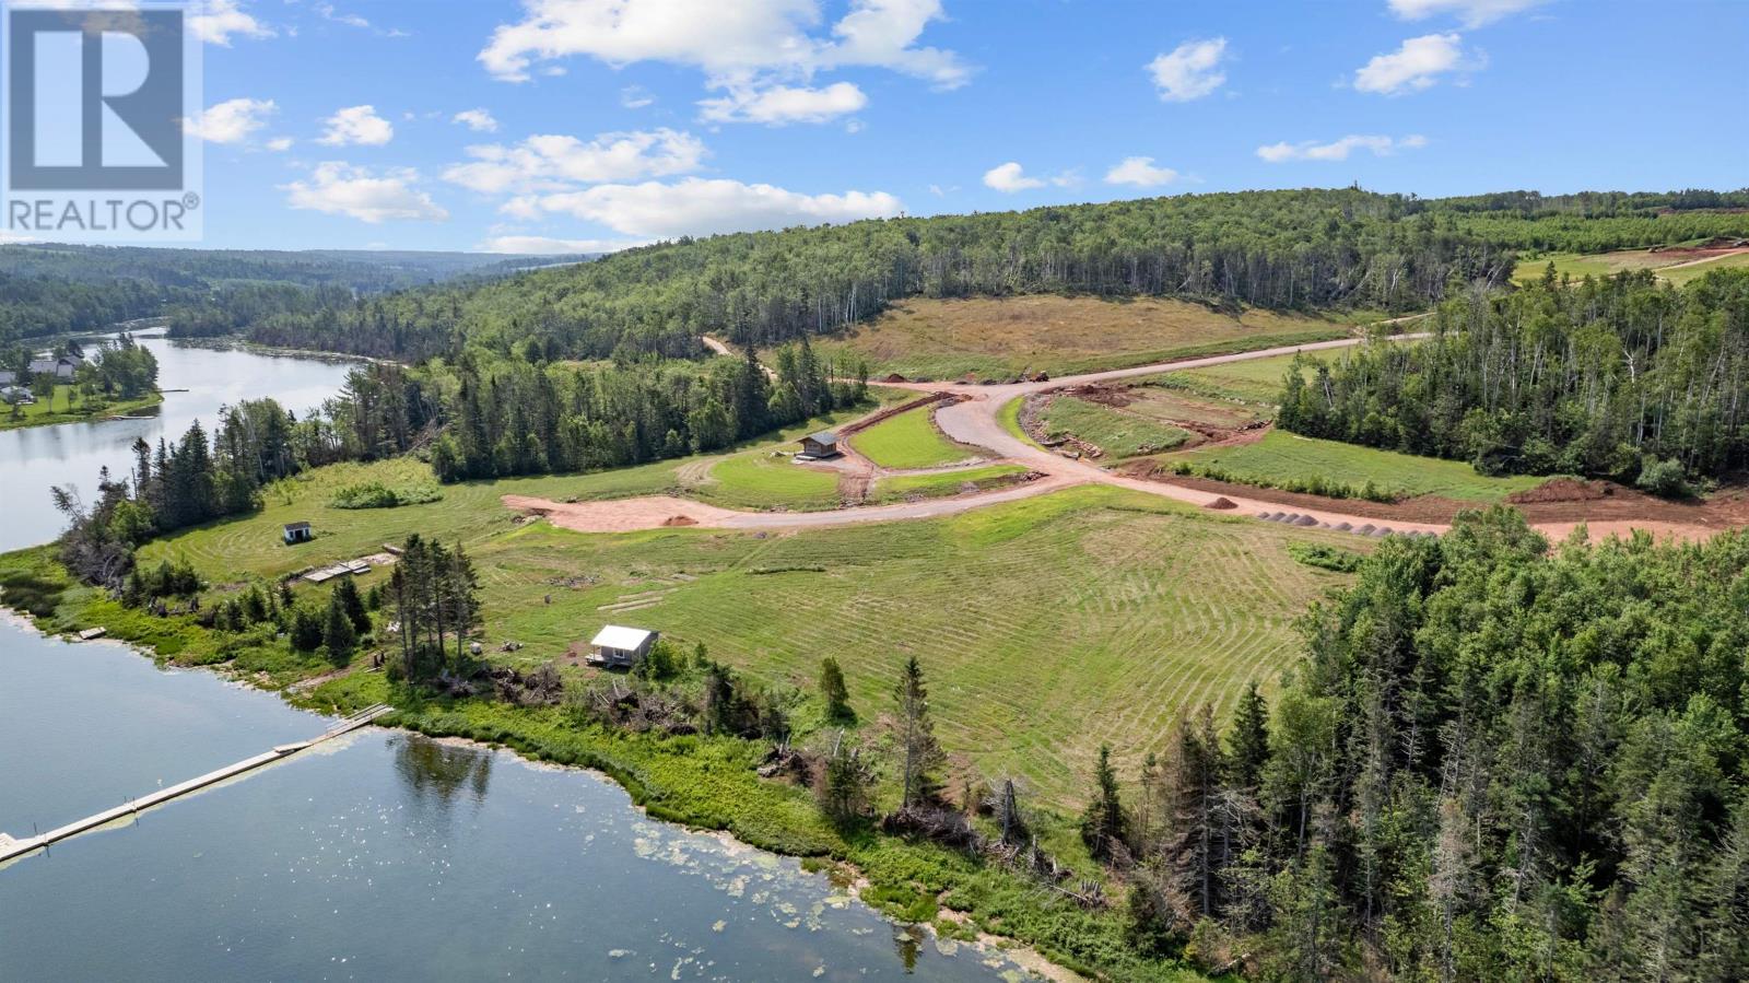
[[815, 0], [523, 0], [523, 19], [500, 24], [479, 61], [512, 82], [528, 80], [537, 61], [584, 54], [609, 65], [691, 65], [714, 84], [878, 66], [953, 87], [971, 77], [960, 58], [916, 45], [941, 16], [939, 0], [854, 0], [822, 37]]

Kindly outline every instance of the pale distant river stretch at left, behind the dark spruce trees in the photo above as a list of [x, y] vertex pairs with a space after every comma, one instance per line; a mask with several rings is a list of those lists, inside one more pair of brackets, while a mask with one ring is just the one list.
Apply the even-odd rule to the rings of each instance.
[[212, 434], [220, 406], [271, 395], [299, 416], [339, 392], [348, 362], [264, 355], [240, 348], [201, 348], [143, 338], [157, 357], [157, 385], [164, 402], [140, 420], [100, 420], [0, 432], [0, 553], [52, 539], [65, 525], [49, 500], [49, 488], [75, 485], [96, 493], [98, 469], [117, 478], [133, 471], [133, 441], [149, 444], [178, 439], [199, 420]]

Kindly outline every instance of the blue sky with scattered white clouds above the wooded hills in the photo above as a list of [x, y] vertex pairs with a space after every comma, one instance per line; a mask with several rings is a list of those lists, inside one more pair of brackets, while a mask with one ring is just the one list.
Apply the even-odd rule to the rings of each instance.
[[1749, 184], [1739, 0], [212, 0], [199, 30], [210, 247]]

